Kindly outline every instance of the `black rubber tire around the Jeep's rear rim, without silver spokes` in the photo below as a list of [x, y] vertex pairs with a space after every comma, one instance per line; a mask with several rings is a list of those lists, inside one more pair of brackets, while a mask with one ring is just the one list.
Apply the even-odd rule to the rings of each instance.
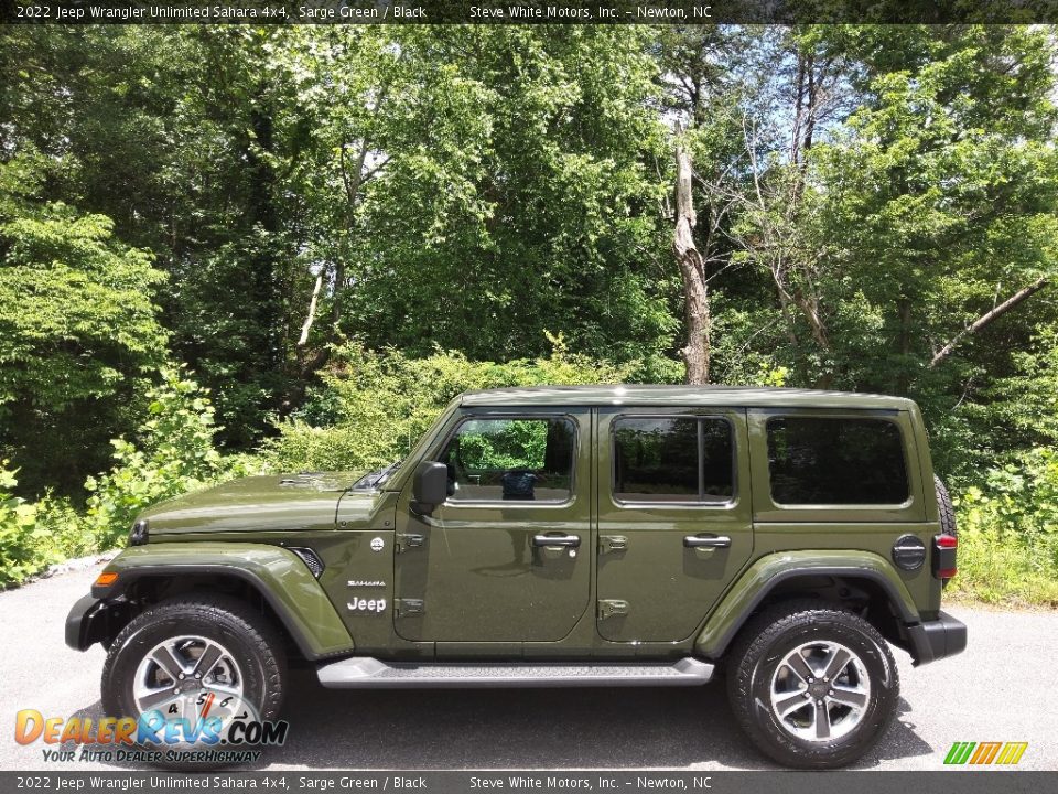
[[[830, 741], [808, 740], [796, 734], [795, 728], [788, 727], [771, 705], [773, 687], [780, 676], [789, 675], [785, 659], [806, 643], [833, 643], [833, 647], [851, 651], [870, 686], [870, 691], [861, 696], [865, 707], [859, 711], [841, 704], [831, 705], [833, 701], [830, 700], [819, 707], [828, 711], [824, 718], [827, 731], [831, 726], [831, 712], [839, 720], [844, 715], [850, 719], [845, 725], [853, 726], [848, 733]], [[727, 696], [735, 720], [757, 749], [785, 766], [833, 769], [852, 763], [885, 733], [899, 698], [896, 664], [882, 635], [856, 614], [822, 601], [788, 601], [762, 612], [743, 629], [731, 651], [728, 667]], [[780, 667], [784, 668], [781, 672]], [[852, 676], [853, 673], [843, 675]], [[834, 683], [813, 683], [812, 686], [836, 688], [838, 680], [835, 677]], [[850, 678], [842, 678], [843, 684], [848, 680]], [[808, 688], [806, 684], [806, 690]], [[795, 695], [797, 690], [790, 690], [782, 697]], [[821, 696], [824, 697], [825, 693]], [[811, 719], [810, 727], [805, 729], [811, 731], [818, 713], [812, 705], [814, 695], [805, 697], [808, 698], [806, 710], [794, 712], [787, 719]], [[840, 728], [835, 730], [838, 732]]]

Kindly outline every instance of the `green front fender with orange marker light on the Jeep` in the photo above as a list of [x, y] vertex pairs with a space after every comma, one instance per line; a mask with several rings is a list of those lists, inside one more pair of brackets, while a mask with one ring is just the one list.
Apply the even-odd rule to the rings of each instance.
[[292, 551], [267, 544], [180, 543], [128, 548], [104, 573], [117, 573], [108, 586], [94, 586], [102, 602], [122, 596], [133, 582], [151, 578], [216, 575], [240, 579], [268, 602], [309, 659], [349, 653], [353, 637], [320, 582]]

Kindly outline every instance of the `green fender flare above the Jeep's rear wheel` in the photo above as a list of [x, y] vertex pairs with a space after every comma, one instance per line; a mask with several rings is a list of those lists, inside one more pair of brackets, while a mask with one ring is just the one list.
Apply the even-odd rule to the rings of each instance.
[[911, 594], [893, 566], [878, 555], [825, 549], [780, 551], [758, 559], [727, 591], [694, 641], [695, 654], [705, 658], [722, 655], [771, 590], [784, 581], [802, 576], [867, 579], [882, 587], [905, 624], [919, 622], [918, 608]]

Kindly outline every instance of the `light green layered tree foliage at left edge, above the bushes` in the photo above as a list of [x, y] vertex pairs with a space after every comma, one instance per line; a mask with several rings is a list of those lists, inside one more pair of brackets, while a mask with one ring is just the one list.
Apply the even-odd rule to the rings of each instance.
[[44, 174], [29, 153], [0, 162], [0, 446], [31, 493], [71, 490], [100, 463], [166, 341], [151, 257], [106, 216], [34, 200]]

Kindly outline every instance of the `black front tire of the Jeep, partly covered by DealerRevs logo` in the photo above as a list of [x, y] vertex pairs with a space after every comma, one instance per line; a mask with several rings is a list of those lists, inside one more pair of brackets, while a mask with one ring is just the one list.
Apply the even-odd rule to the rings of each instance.
[[[140, 663], [165, 640], [186, 635], [214, 641], [230, 653], [240, 673], [242, 699], [252, 706], [253, 717], [271, 720], [279, 715], [287, 688], [287, 658], [279, 633], [249, 604], [213, 594], [187, 594], [161, 601], [121, 630], [110, 645], [102, 668], [104, 711], [111, 717], [139, 718], [133, 683]], [[188, 675], [188, 683], [190, 678]], [[159, 765], [202, 769], [217, 764], [162, 761]]]

